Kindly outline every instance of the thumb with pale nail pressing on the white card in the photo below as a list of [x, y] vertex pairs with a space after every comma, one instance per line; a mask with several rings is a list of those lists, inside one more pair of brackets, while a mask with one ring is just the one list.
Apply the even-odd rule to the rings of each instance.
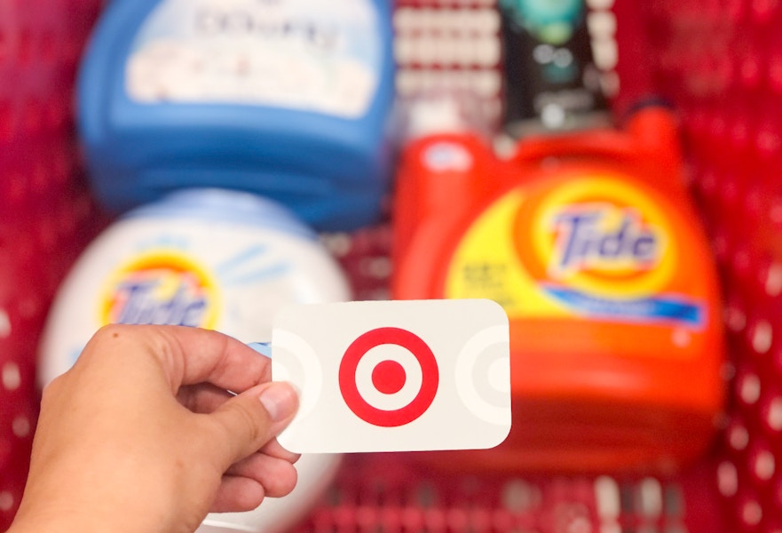
[[226, 442], [225, 468], [261, 449], [285, 429], [298, 409], [296, 390], [286, 382], [254, 386], [209, 415]]

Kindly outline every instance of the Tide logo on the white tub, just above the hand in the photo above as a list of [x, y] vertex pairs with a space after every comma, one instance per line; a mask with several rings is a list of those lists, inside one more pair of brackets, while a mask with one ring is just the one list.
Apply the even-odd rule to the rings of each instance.
[[100, 322], [165, 324], [213, 329], [217, 284], [184, 253], [149, 251], [109, 276]]

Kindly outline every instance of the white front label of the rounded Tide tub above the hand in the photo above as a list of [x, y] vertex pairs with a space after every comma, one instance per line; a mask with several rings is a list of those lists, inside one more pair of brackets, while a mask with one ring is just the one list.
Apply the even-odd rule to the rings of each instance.
[[268, 341], [282, 306], [349, 296], [341, 269], [317, 243], [212, 220], [121, 220], [63, 284], [39, 378], [45, 385], [68, 370], [109, 323], [186, 325]]

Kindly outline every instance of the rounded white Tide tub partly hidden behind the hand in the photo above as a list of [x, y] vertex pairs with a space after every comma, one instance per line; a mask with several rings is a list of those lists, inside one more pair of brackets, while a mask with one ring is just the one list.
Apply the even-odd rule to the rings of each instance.
[[[39, 382], [69, 369], [108, 323], [187, 325], [267, 342], [281, 306], [350, 297], [317, 235], [278, 203], [220, 189], [179, 191], [127, 213], [77, 260], [43, 331]], [[290, 495], [248, 513], [210, 514], [199, 531], [289, 529], [328, 488], [340, 458], [302, 456]]]

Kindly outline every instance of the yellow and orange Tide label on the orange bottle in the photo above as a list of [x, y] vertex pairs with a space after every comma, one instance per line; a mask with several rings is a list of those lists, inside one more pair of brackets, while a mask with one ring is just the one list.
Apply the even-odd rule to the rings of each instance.
[[697, 354], [713, 288], [699, 282], [703, 261], [683, 260], [700, 250], [685, 224], [628, 175], [564, 169], [489, 204], [457, 244], [444, 294], [493, 298], [511, 321], [674, 328], [670, 340]]

